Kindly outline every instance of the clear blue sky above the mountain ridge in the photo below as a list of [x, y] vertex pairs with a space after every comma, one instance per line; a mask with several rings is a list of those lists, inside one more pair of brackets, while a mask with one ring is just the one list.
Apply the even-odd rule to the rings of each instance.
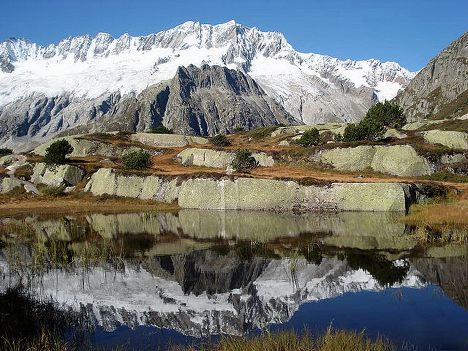
[[410, 70], [468, 31], [468, 0], [0, 0], [0, 41], [42, 45], [107, 32], [147, 35], [186, 20], [282, 32], [300, 52], [396, 61]]

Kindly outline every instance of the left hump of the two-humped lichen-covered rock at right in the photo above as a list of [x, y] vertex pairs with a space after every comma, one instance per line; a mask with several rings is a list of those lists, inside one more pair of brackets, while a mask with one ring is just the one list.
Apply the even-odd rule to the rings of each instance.
[[336, 148], [323, 150], [315, 158], [317, 161], [331, 165], [340, 171], [361, 171], [370, 167], [375, 151], [374, 146]]

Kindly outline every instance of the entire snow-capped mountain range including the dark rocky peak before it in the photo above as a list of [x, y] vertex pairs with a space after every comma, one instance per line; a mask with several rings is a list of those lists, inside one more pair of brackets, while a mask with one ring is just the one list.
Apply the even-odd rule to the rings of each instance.
[[414, 76], [394, 62], [298, 53], [282, 34], [234, 21], [186, 22], [145, 37], [99, 33], [47, 47], [7, 39], [0, 67], [0, 143], [22, 151], [58, 135], [161, 123], [212, 135], [352, 122]]

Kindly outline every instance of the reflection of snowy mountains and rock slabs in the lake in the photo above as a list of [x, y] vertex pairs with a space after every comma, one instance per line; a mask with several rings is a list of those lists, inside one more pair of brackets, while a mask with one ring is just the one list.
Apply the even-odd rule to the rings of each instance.
[[[37, 240], [15, 244], [12, 231], [25, 221], [40, 250]], [[2, 226], [10, 228], [0, 238], [2, 289], [19, 279], [15, 259], [34, 262], [46, 252], [48, 267], [31, 291], [108, 331], [151, 325], [196, 337], [244, 334], [288, 322], [307, 301], [429, 281], [467, 306], [466, 256], [406, 258], [414, 243], [389, 214], [184, 210], [4, 219]], [[52, 253], [68, 258], [60, 263]], [[102, 259], [83, 267], [90, 253]]]

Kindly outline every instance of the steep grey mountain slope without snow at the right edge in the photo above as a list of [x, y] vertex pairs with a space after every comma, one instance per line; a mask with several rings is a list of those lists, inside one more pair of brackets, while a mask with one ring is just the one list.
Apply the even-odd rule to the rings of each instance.
[[468, 113], [468, 32], [453, 41], [414, 77], [398, 102], [409, 120]]

